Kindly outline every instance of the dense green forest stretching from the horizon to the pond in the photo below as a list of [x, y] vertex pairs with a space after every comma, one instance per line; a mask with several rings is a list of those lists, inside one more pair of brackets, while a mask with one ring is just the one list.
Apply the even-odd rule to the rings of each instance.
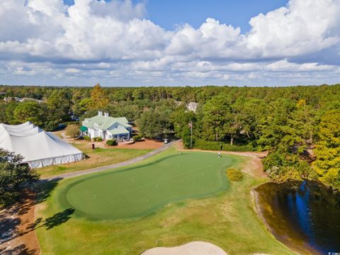
[[[186, 147], [268, 151], [263, 165], [276, 181], [315, 179], [340, 188], [340, 85], [292, 87], [0, 86], [0, 122], [30, 120], [52, 129], [101, 109], [137, 123], [145, 137], [181, 137]], [[186, 103], [198, 102], [196, 113]], [[181, 103], [180, 103], [181, 102]]]

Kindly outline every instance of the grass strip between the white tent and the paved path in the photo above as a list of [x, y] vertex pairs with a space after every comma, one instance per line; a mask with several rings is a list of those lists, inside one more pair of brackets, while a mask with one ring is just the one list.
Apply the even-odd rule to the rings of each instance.
[[74, 171], [91, 169], [98, 166], [106, 166], [108, 164], [124, 162], [128, 159], [133, 159], [152, 151], [152, 149], [120, 149], [118, 147], [113, 147], [112, 149], [91, 149], [89, 144], [84, 143], [74, 143], [72, 145], [80, 149], [81, 152], [84, 152], [84, 154], [86, 154], [89, 158], [81, 160], [80, 162], [46, 166], [37, 169], [40, 176], [55, 176], [57, 174], [66, 174]]

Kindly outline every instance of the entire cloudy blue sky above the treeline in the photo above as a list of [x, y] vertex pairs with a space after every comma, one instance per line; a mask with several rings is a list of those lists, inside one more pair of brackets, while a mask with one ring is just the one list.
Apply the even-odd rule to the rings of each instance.
[[0, 10], [0, 84], [339, 82], [339, 0], [1, 0]]

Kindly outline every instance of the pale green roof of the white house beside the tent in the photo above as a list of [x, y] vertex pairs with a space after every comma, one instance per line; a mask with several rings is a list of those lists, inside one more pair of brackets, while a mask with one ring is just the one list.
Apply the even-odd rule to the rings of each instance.
[[132, 125], [128, 123], [128, 120], [125, 117], [113, 118], [113, 117], [105, 117], [103, 115], [96, 115], [92, 118], [86, 118], [82, 125], [86, 128], [96, 128], [99, 130], [108, 130], [112, 125], [118, 123], [122, 125], [124, 128], [131, 128]]

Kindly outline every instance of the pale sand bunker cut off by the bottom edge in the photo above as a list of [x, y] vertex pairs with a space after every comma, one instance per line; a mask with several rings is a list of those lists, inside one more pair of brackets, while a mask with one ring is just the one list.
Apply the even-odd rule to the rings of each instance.
[[227, 255], [220, 247], [208, 242], [190, 242], [176, 247], [157, 247], [142, 255]]

